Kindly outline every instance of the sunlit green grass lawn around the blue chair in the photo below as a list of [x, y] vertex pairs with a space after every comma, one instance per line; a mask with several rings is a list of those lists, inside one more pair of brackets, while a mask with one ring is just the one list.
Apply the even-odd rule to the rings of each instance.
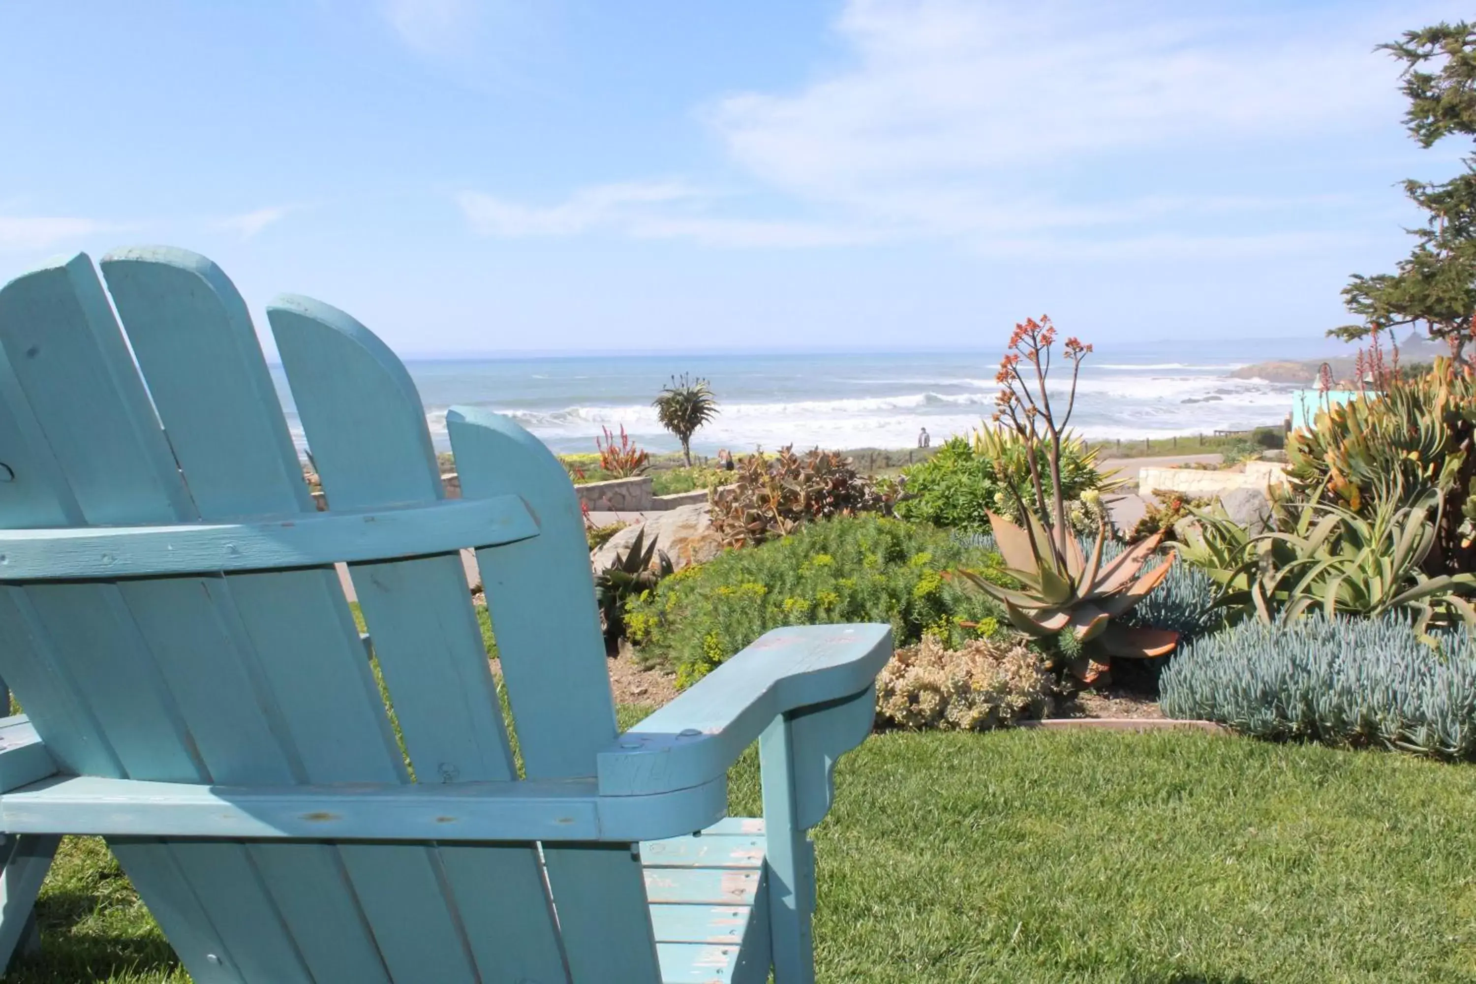
[[[732, 800], [757, 811], [751, 752]], [[1473, 803], [1476, 769], [1380, 752], [874, 735], [816, 832], [819, 980], [1476, 981]], [[187, 980], [96, 841], [40, 919], [7, 981]]]

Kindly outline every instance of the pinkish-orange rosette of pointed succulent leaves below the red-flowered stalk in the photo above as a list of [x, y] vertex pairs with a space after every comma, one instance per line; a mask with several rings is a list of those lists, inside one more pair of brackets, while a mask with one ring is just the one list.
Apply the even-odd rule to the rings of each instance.
[[1179, 634], [1172, 628], [1129, 627], [1113, 621], [1169, 575], [1172, 555], [1144, 572], [1163, 541], [1162, 533], [1104, 562], [1106, 530], [1098, 531], [1091, 552], [1083, 555], [1075, 536], [1064, 538], [1064, 550], [1057, 550], [1049, 531], [1033, 515], [1024, 527], [993, 513], [989, 522], [1007, 574], [1018, 587], [993, 584], [977, 571], [961, 569], [958, 574], [998, 599], [1011, 624], [1027, 636], [1064, 636], [1063, 651], [1077, 654], [1069, 667], [1083, 683], [1101, 682], [1113, 656], [1147, 659], [1173, 652]]

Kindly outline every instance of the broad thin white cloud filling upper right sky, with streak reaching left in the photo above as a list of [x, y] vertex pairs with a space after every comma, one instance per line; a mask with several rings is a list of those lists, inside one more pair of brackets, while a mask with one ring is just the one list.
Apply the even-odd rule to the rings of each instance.
[[[846, 68], [698, 114], [763, 195], [601, 184], [554, 205], [461, 196], [494, 236], [595, 230], [713, 246], [952, 239], [989, 255], [1280, 255], [1325, 245], [1348, 196], [1240, 180], [1342, 140], [1387, 153], [1398, 66], [1374, 43], [1454, 0], [1247, 13], [1230, 0], [846, 0]], [[1417, 9], [1411, 9], [1417, 7]], [[1179, 187], [1139, 173], [1165, 155]], [[1210, 167], [1209, 162], [1213, 162]], [[1210, 173], [1210, 171], [1215, 173]], [[1261, 181], [1258, 184], [1258, 181]], [[1377, 209], [1374, 193], [1356, 202]], [[756, 217], [763, 201], [781, 217]], [[1346, 242], [1346, 236], [1336, 236]], [[1259, 252], [1258, 252], [1259, 251]]]

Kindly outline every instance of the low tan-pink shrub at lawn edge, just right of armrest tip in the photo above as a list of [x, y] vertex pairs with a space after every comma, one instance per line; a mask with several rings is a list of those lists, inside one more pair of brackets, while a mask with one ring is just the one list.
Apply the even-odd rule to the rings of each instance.
[[1052, 676], [1039, 654], [984, 639], [948, 649], [936, 636], [897, 649], [877, 677], [877, 723], [983, 732], [1039, 718]]

